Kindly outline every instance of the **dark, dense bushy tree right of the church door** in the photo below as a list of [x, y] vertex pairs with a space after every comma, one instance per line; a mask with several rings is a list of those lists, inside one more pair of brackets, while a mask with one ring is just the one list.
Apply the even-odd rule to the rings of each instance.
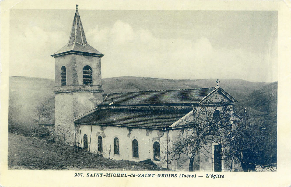
[[276, 143], [269, 137], [276, 132], [268, 126], [267, 120], [252, 118], [244, 110], [244, 120], [234, 122], [232, 131], [225, 136], [225, 159], [233, 158], [245, 172], [255, 171], [257, 166], [262, 170], [275, 171], [272, 149], [276, 149]]

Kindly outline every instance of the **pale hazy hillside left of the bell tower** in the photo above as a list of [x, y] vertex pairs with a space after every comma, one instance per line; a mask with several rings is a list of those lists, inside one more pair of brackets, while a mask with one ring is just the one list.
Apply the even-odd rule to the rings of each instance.
[[9, 77], [8, 120], [24, 132], [34, 123], [36, 106], [54, 97], [54, 80], [34, 77]]

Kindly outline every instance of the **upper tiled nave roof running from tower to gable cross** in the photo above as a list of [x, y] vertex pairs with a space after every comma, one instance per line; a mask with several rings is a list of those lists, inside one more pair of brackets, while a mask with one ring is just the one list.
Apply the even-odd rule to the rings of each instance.
[[100, 105], [139, 105], [139, 104], [198, 104], [216, 88], [185, 90], [139, 91], [103, 94]]

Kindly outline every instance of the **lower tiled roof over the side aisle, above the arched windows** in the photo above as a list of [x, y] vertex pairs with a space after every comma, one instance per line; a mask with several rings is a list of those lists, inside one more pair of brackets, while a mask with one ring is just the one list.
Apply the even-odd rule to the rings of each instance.
[[162, 129], [168, 127], [192, 109], [100, 109], [76, 120], [77, 124], [116, 125]]

